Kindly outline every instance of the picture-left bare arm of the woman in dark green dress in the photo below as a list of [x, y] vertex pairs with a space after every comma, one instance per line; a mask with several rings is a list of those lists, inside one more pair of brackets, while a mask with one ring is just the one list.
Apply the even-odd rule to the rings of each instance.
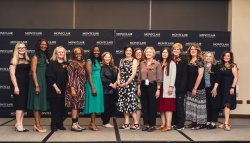
[[37, 81], [36, 68], [37, 68], [37, 56], [33, 56], [32, 61], [31, 61], [31, 74], [32, 74], [32, 80], [33, 80], [33, 82], [35, 84], [36, 94], [39, 94], [40, 87], [39, 87], [39, 84], [38, 84], [38, 81]]

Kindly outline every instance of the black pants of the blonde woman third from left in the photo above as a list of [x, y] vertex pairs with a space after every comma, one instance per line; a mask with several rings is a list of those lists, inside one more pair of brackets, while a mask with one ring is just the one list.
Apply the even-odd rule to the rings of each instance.
[[51, 125], [63, 124], [65, 116], [65, 98], [64, 97], [51, 97]]

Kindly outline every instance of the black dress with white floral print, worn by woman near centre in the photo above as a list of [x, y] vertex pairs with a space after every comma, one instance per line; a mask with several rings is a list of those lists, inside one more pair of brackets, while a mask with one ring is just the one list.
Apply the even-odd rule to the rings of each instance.
[[[121, 60], [120, 64], [120, 78], [121, 82], [125, 83], [132, 75], [133, 60]], [[117, 110], [123, 113], [133, 113], [136, 111], [137, 102], [135, 94], [135, 81], [134, 79], [125, 87], [118, 88], [118, 102]]]

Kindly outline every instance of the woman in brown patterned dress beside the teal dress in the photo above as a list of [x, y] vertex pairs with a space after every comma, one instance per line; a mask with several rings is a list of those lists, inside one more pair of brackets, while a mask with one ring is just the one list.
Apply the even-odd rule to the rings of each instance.
[[79, 110], [84, 109], [86, 72], [83, 62], [83, 49], [80, 47], [71, 50], [71, 62], [68, 66], [68, 83], [66, 86], [65, 104], [71, 108], [71, 130], [81, 132], [85, 128], [78, 123]]

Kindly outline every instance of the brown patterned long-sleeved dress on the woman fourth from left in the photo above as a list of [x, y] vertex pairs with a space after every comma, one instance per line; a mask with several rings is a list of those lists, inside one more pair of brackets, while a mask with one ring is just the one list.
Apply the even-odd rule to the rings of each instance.
[[[84, 109], [86, 71], [77, 61], [70, 62], [68, 68], [68, 83], [65, 93], [65, 105], [68, 108]], [[76, 90], [76, 96], [71, 95], [71, 87]]]

